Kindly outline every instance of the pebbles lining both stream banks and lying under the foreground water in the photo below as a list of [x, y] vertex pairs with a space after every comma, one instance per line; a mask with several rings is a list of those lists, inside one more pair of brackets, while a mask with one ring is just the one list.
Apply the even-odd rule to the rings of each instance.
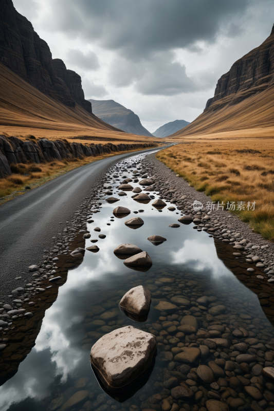
[[[129, 174], [134, 182], [151, 179], [152, 184], [143, 187], [143, 191], [158, 193], [159, 198], [170, 202], [183, 215], [193, 216], [194, 229], [227, 242], [234, 247], [235, 258], [246, 256], [250, 273], [255, 265], [262, 270], [260, 281], [269, 285], [274, 282], [271, 260], [274, 245], [228, 212], [205, 209], [194, 212], [194, 200], [205, 204], [210, 198], [196, 192], [154, 155], [140, 155], [109, 169], [74, 219], [67, 222], [63, 233], [53, 238], [54, 246], [44, 250], [43, 263], [29, 267], [33, 281], [13, 290], [10, 295], [16, 299], [1, 309], [2, 334], [14, 330], [15, 320], [32, 317], [31, 305], [35, 303], [31, 299], [52, 287], [50, 281], [58, 277], [60, 255], [68, 255], [75, 249], [74, 241], [79, 234], [89, 238], [86, 221], [92, 221], [100, 212], [100, 199], [114, 195], [113, 186], [107, 186], [107, 182], [113, 179], [117, 184], [129, 183], [126, 181]], [[123, 196], [123, 192], [117, 194]], [[154, 195], [150, 194], [150, 198]], [[139, 396], [135, 395], [134, 402], [129, 399], [120, 404], [100, 388], [90, 386], [87, 378], [78, 378], [73, 387], [48, 398], [47, 411], [274, 411], [274, 330], [255, 300], [250, 301], [244, 290], [235, 297], [234, 283], [227, 284], [225, 292], [215, 293], [206, 276], [181, 271], [178, 266], [154, 265], [149, 273], [133, 274], [130, 286], [139, 284], [152, 292], [152, 306], [157, 313], [153, 323], [140, 326], [157, 339], [158, 354], [150, 386], [144, 387]], [[112, 307], [111, 298], [108, 296], [101, 305], [90, 308], [86, 326], [94, 330], [87, 331], [83, 346], [90, 348], [104, 333], [129, 323], [125, 319], [118, 324], [117, 309], [106, 311]], [[113, 300], [119, 301], [117, 295]], [[3, 335], [0, 345], [3, 353], [7, 346], [8, 338]]]

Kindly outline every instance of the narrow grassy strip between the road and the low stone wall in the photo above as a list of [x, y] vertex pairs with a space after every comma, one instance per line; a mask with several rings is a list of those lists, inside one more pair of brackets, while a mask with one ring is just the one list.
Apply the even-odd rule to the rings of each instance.
[[[130, 150], [130, 152], [138, 152], [143, 148]], [[117, 152], [112, 154], [102, 154], [97, 157], [85, 157], [83, 159], [73, 158], [66, 160], [54, 160], [49, 163], [27, 163], [27, 164], [12, 164], [12, 175], [7, 178], [0, 179], [0, 204], [12, 199], [16, 195], [21, 195], [26, 192], [25, 187], [30, 189], [38, 187], [53, 178], [59, 177], [70, 170], [77, 167], [102, 160], [107, 157], [115, 157], [120, 154], [128, 153], [127, 151]], [[3, 198], [7, 197], [8, 198]]]

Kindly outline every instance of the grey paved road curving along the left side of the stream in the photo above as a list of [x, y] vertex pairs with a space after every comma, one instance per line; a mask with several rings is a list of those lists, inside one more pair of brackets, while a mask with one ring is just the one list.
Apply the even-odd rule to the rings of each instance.
[[43, 250], [52, 245], [52, 237], [62, 232], [65, 221], [70, 220], [109, 167], [124, 158], [151, 151], [155, 148], [84, 165], [0, 206], [0, 301], [21, 286], [23, 278], [15, 280], [21, 272], [25, 273], [24, 279], [31, 277], [27, 267], [41, 260]]

